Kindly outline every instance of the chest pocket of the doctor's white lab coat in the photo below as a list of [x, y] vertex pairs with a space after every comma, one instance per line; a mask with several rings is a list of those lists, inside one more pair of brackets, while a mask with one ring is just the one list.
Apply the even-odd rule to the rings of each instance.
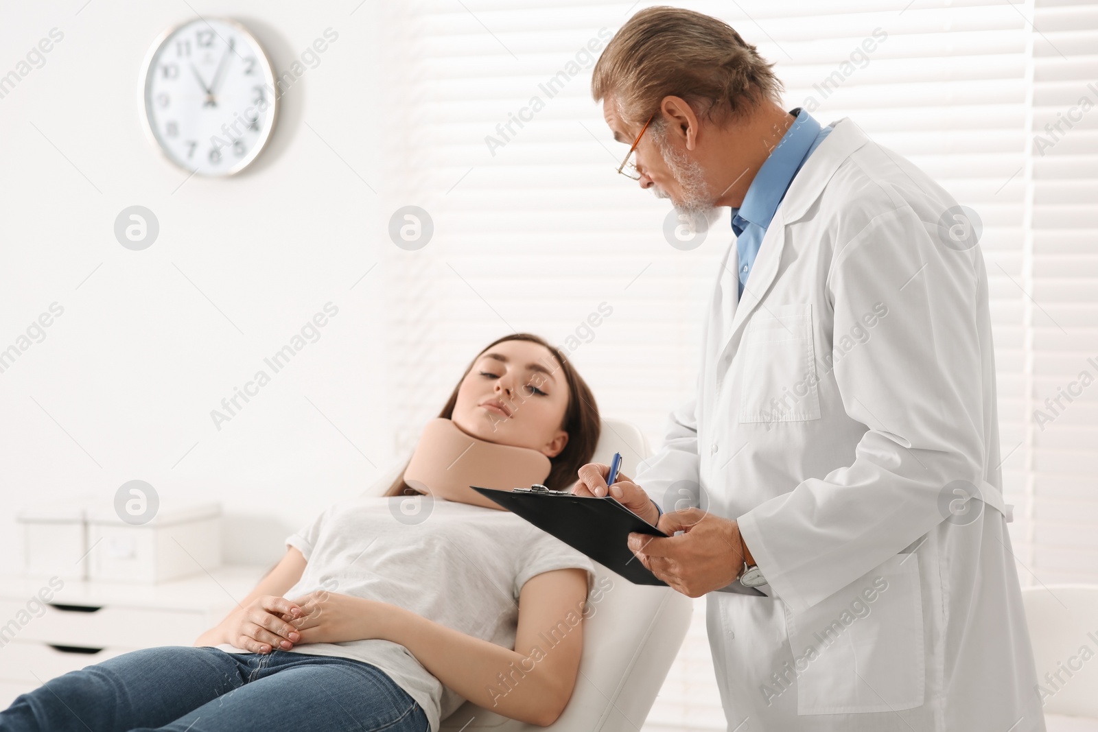
[[811, 304], [760, 306], [742, 348], [741, 423], [820, 418]]

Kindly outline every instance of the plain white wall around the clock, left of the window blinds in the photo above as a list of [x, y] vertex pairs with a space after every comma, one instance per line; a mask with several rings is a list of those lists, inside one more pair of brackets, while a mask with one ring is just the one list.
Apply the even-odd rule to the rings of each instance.
[[[221, 500], [226, 558], [270, 562], [391, 460], [383, 268], [355, 285], [393, 246], [363, 182], [382, 190], [383, 106], [373, 3], [355, 4], [3, 3], [0, 75], [64, 37], [0, 99], [0, 349], [53, 303], [64, 313], [0, 373], [0, 572], [20, 561], [21, 504], [110, 505], [134, 478], [161, 505]], [[142, 60], [191, 7], [243, 21], [277, 72], [339, 34], [231, 179], [186, 180], [142, 128]], [[144, 251], [113, 235], [134, 204], [160, 225]], [[321, 338], [219, 430], [211, 410], [328, 302]]]

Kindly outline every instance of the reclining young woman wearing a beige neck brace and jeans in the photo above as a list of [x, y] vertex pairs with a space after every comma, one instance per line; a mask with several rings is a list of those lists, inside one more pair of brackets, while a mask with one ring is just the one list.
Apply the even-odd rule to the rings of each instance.
[[288, 537], [193, 647], [59, 676], [0, 712], [0, 730], [437, 732], [463, 699], [551, 724], [575, 685], [594, 563], [468, 486], [567, 489], [598, 431], [563, 356], [536, 336], [502, 338], [388, 492]]

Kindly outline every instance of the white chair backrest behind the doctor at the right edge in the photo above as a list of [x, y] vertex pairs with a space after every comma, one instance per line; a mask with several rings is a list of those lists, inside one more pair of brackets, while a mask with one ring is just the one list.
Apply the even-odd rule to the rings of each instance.
[[1022, 605], [1045, 713], [1098, 718], [1098, 585], [1023, 587]]

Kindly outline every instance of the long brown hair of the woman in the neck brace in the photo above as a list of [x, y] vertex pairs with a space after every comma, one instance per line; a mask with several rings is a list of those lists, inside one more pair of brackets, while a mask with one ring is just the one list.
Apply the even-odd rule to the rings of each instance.
[[[515, 333], [489, 344], [466, 367], [464, 373], [458, 380], [458, 385], [453, 387], [453, 393], [450, 394], [450, 398], [446, 401], [446, 406], [438, 413], [438, 416], [446, 419], [453, 417], [453, 406], [458, 402], [458, 391], [461, 388], [461, 382], [469, 375], [473, 364], [477, 363], [477, 359], [493, 346], [507, 340], [526, 340], [547, 348], [560, 367], [560, 371], [564, 375], [564, 381], [568, 382], [568, 407], [564, 409], [564, 421], [561, 425], [561, 429], [568, 432], [568, 444], [560, 451], [560, 454], [549, 459], [552, 468], [549, 470], [549, 477], [546, 478], [545, 483], [546, 487], [551, 491], [567, 491], [575, 483], [576, 473], [580, 468], [591, 462], [592, 455], [595, 454], [595, 446], [598, 443], [602, 423], [598, 418], [598, 407], [595, 405], [595, 396], [591, 393], [587, 383], [576, 373], [564, 353], [560, 349], [550, 346], [544, 338], [533, 336], [528, 333]], [[406, 470], [407, 465], [404, 468]], [[418, 493], [418, 491], [404, 482], [404, 471], [401, 471], [396, 481], [382, 495], [403, 496], [417, 495]]]

